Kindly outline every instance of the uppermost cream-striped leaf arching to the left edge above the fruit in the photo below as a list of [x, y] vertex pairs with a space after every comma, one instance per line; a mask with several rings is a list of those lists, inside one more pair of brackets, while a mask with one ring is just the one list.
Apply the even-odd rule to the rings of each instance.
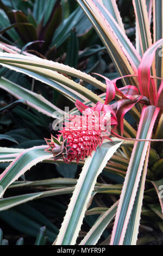
[[[3, 53], [3, 55], [1, 54], [0, 56], [0, 63], [3, 66], [5, 66], [4, 64], [8, 65], [7, 68], [9, 68], [9, 65], [20, 68], [20, 70], [16, 70], [19, 72], [22, 72], [21, 69], [25, 69], [31, 72], [35, 72], [39, 75], [43, 75], [51, 80], [54, 80], [55, 82], [64, 84], [68, 88], [76, 90], [80, 94], [85, 94], [85, 92], [91, 93], [91, 91], [74, 82], [73, 80], [62, 76], [61, 74], [67, 74], [73, 77], [77, 77], [103, 90], [103, 92], [106, 92], [106, 85], [101, 81], [98, 81], [95, 77], [87, 75], [80, 70], [71, 68], [70, 66], [52, 62], [51, 60], [41, 59], [35, 56], [32, 57], [23, 56], [21, 54]], [[11, 67], [10, 69], [13, 68]], [[61, 74], [59, 74], [58, 72]]]

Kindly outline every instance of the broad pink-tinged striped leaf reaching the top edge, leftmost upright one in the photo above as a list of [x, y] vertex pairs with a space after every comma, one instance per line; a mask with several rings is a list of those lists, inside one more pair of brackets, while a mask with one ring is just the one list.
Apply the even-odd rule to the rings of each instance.
[[[120, 76], [136, 73], [141, 57], [102, 1], [77, 1], [91, 20]], [[130, 84], [136, 84], [133, 78], [127, 81], [130, 81]]]

